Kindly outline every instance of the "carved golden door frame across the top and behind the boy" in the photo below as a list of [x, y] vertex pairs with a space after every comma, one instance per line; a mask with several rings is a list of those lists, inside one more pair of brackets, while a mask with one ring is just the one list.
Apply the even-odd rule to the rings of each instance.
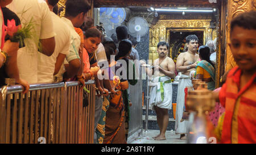
[[[60, 0], [59, 5], [64, 5], [66, 0]], [[228, 47], [228, 37], [230, 32], [230, 22], [234, 16], [241, 12], [256, 10], [256, 0], [88, 0], [92, 8], [94, 7], [214, 7], [218, 9], [218, 31], [217, 31], [217, 53], [216, 53], [216, 87], [220, 86], [220, 77], [234, 60]], [[88, 16], [93, 17], [94, 10], [88, 12]]]

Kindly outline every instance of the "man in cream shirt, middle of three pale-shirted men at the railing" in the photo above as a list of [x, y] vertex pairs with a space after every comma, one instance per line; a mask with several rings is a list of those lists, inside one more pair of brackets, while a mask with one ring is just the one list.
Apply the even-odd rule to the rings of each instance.
[[69, 55], [69, 47], [71, 45], [71, 32], [68, 30], [67, 24], [60, 19], [59, 16], [53, 13], [53, 6], [59, 0], [46, 0], [47, 5], [51, 11], [53, 22], [53, 29], [55, 36], [55, 51], [52, 56], [47, 57], [41, 53], [38, 56], [38, 82], [53, 82], [53, 74], [58, 73], [61, 65], [64, 62], [66, 55]]

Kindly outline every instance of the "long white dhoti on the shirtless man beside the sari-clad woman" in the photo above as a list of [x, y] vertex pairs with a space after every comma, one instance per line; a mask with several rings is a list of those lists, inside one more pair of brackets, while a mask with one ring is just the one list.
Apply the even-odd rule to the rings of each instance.
[[185, 87], [193, 86], [191, 77], [181, 74], [179, 79], [179, 85], [177, 87], [177, 104], [176, 104], [176, 119], [175, 119], [175, 131], [176, 134], [184, 134], [187, 133], [187, 125], [188, 121], [184, 120], [180, 122], [182, 119], [182, 115], [184, 112], [184, 104], [185, 104]]

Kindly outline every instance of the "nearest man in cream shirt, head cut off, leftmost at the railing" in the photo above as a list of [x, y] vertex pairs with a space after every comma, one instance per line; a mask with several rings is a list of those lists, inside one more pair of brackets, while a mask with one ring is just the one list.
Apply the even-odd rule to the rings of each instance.
[[14, 0], [8, 6], [21, 20], [22, 27], [28, 22], [34, 26], [33, 38], [24, 41], [25, 47], [18, 51], [18, 69], [20, 78], [28, 83], [38, 82], [38, 54], [51, 56], [55, 49], [55, 32], [49, 8], [43, 0]]

